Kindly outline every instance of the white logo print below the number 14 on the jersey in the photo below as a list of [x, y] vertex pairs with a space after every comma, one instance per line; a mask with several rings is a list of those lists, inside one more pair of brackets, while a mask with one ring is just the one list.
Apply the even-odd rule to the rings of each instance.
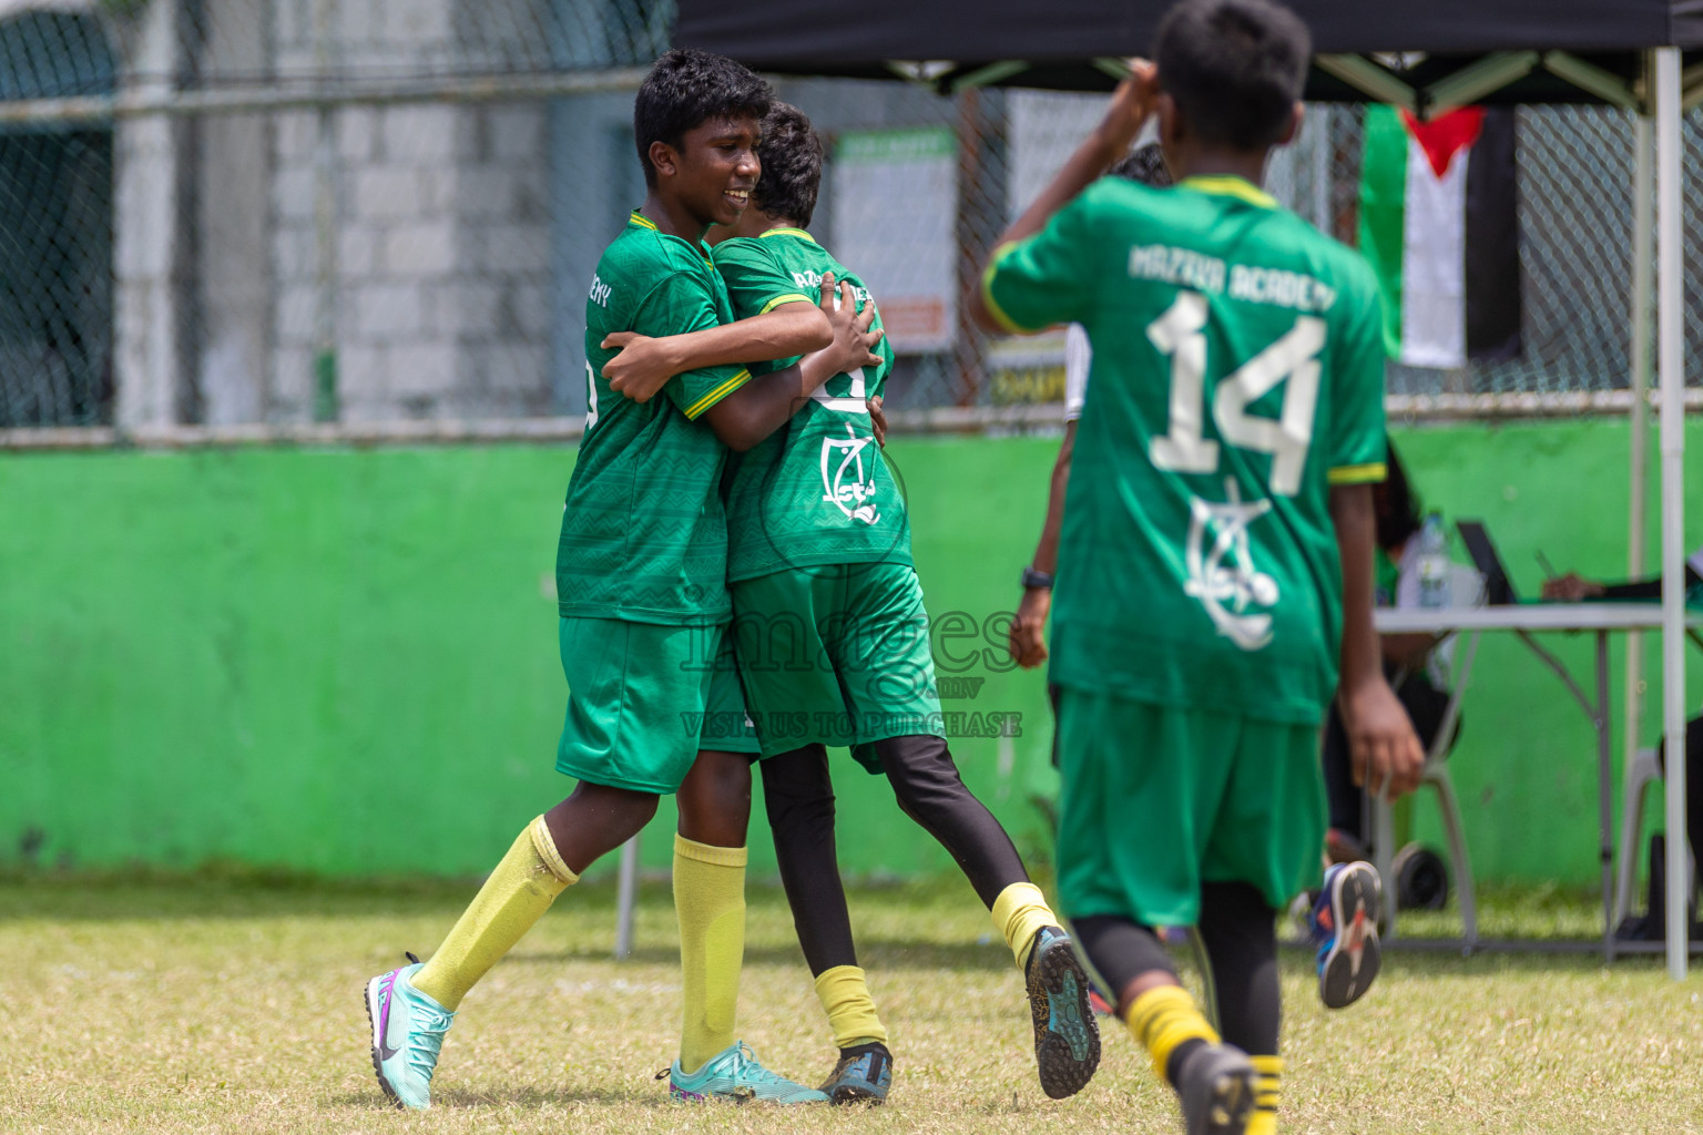
[[[1224, 504], [1189, 499], [1189, 579], [1185, 596], [1201, 601], [1218, 633], [1243, 650], [1260, 650], [1272, 640], [1272, 616], [1250, 613], [1250, 606], [1277, 606], [1277, 580], [1253, 567], [1248, 553], [1248, 524], [1272, 509], [1270, 500], [1241, 502], [1231, 476], [1224, 478]], [[1204, 550], [1211, 536], [1211, 551]], [[1226, 563], [1226, 556], [1230, 562]]]

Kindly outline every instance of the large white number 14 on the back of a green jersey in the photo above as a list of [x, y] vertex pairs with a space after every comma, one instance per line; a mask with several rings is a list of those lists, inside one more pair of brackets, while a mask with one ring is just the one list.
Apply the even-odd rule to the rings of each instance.
[[[1165, 315], [1148, 323], [1148, 340], [1172, 361], [1170, 425], [1148, 448], [1155, 468], [1175, 473], [1218, 470], [1218, 442], [1201, 436], [1206, 412], [1206, 296], [1177, 293]], [[1272, 454], [1270, 490], [1293, 497], [1301, 488], [1306, 451], [1313, 442], [1318, 407], [1318, 356], [1325, 349], [1325, 320], [1296, 317], [1277, 342], [1238, 366], [1218, 383], [1213, 419], [1233, 446]], [[1248, 414], [1248, 407], [1287, 383], [1277, 419]]]

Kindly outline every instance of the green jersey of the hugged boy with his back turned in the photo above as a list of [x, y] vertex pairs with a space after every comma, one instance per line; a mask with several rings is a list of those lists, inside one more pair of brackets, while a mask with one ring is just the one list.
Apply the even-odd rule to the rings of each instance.
[[[714, 255], [737, 318], [814, 301], [824, 272], [857, 288], [860, 311], [869, 303], [862, 281], [802, 228], [725, 240]], [[727, 480], [727, 579], [829, 563], [911, 562], [904, 493], [875, 444], [863, 405], [882, 391], [892, 369], [886, 339], [875, 352], [880, 369], [858, 368], [828, 379], [790, 422], [734, 458]]]

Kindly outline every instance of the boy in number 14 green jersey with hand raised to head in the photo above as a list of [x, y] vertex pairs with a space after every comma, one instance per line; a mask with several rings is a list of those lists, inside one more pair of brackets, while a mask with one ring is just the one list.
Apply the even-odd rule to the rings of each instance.
[[[1424, 759], [1371, 619], [1376, 282], [1257, 187], [1308, 56], [1269, 0], [1184, 0], [967, 298], [1093, 345], [1052, 611], [1059, 895], [1190, 1133], [1276, 1130], [1274, 917], [1318, 871], [1325, 704], [1373, 783]], [[1090, 185], [1150, 114], [1178, 185]], [[1223, 1038], [1151, 931], [1187, 924]]]

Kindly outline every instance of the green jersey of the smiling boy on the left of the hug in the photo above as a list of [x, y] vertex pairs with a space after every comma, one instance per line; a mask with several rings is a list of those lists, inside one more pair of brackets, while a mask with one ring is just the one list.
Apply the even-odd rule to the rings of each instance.
[[605, 248], [586, 299], [586, 434], [567, 482], [555, 592], [564, 616], [724, 623], [727, 448], [693, 419], [751, 374], [710, 366], [676, 374], [651, 402], [610, 390], [611, 332], [678, 335], [732, 322], [708, 248], [634, 213]]

